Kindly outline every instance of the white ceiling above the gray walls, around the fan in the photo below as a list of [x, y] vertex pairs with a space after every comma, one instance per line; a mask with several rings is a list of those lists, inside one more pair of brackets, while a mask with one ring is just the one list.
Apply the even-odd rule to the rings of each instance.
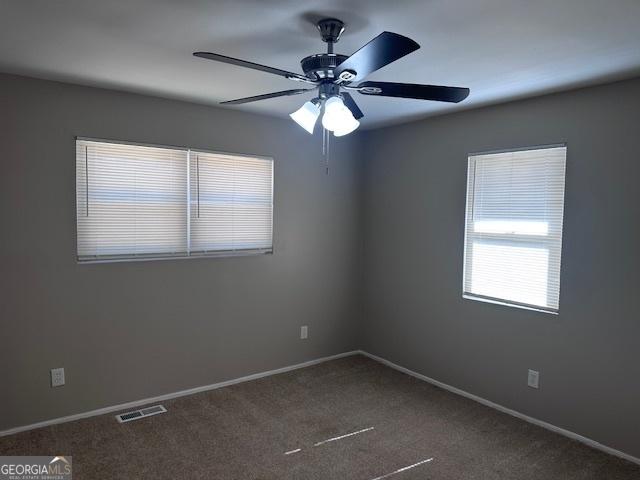
[[355, 94], [369, 127], [640, 74], [640, 0], [0, 0], [0, 71], [215, 104], [301, 85], [192, 52], [298, 72], [322, 16], [348, 24], [337, 53], [384, 30], [422, 46], [369, 80], [471, 88], [457, 106]]

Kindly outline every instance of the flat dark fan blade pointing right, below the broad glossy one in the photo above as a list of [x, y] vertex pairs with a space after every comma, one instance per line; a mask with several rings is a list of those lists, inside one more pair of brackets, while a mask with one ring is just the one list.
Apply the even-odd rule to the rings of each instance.
[[458, 103], [469, 96], [468, 88], [420, 85], [416, 83], [363, 82], [354, 87], [364, 95], [415, 98], [436, 102]]

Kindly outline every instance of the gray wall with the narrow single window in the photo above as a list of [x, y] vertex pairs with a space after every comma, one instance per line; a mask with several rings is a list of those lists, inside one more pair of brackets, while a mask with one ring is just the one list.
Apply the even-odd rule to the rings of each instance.
[[[639, 105], [633, 80], [366, 132], [365, 350], [640, 457]], [[463, 300], [467, 153], [560, 142], [560, 314]]]

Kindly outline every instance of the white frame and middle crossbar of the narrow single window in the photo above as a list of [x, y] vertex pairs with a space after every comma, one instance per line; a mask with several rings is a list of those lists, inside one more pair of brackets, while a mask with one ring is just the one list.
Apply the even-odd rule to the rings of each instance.
[[[470, 218], [470, 211], [472, 209], [472, 205], [469, 204], [470, 200], [473, 199], [473, 196], [469, 195], [469, 181], [471, 175], [470, 169], [470, 161], [471, 157], [481, 156], [481, 155], [498, 155], [501, 153], [517, 153], [517, 152], [527, 152], [531, 150], [545, 150], [552, 148], [564, 148], [565, 149], [565, 170], [564, 170], [564, 178], [563, 178], [563, 200], [562, 200], [562, 217], [560, 219], [560, 223], [555, 225], [553, 228], [559, 228], [560, 230], [560, 249], [558, 251], [557, 263], [559, 265], [558, 272], [558, 307], [543, 307], [540, 305], [534, 305], [524, 302], [518, 302], [515, 300], [508, 300], [504, 298], [490, 297], [486, 295], [479, 295], [474, 293], [466, 292], [466, 279], [467, 279], [467, 268], [469, 266], [472, 267], [472, 262], [467, 265], [467, 259], [472, 255], [472, 252], [469, 251], [467, 241], [467, 232], [469, 229], [469, 222], [473, 221], [473, 218]], [[564, 243], [564, 214], [565, 214], [565, 203], [566, 203], [566, 178], [567, 178], [567, 166], [569, 159], [569, 148], [566, 142], [563, 143], [552, 143], [552, 144], [543, 144], [543, 145], [534, 145], [534, 146], [526, 146], [526, 147], [515, 147], [515, 148], [503, 148], [499, 150], [489, 150], [489, 151], [480, 151], [480, 152], [470, 152], [467, 154], [467, 179], [466, 179], [466, 198], [465, 198], [465, 210], [464, 210], [464, 235], [463, 235], [463, 257], [462, 257], [462, 298], [466, 300], [475, 300], [478, 302], [484, 303], [492, 303], [495, 305], [503, 305], [507, 307], [519, 308], [523, 310], [530, 310], [541, 313], [548, 313], [551, 315], [558, 315], [560, 312], [560, 290], [561, 290], [561, 279], [562, 279], [562, 247]], [[475, 173], [474, 173], [474, 186], [475, 186]], [[550, 229], [551, 230], [551, 229]], [[549, 235], [524, 235], [517, 233], [481, 233], [478, 234], [475, 238], [486, 238], [491, 243], [494, 242], [509, 242], [511, 244], [521, 244], [521, 245], [535, 245], [535, 246], [543, 246], [545, 244], [552, 245], [554, 240]], [[551, 255], [553, 250], [548, 248], [548, 251]], [[551, 262], [551, 257], [549, 257], [549, 262]], [[551, 272], [547, 272], [547, 282], [549, 282], [549, 277], [551, 276]]]

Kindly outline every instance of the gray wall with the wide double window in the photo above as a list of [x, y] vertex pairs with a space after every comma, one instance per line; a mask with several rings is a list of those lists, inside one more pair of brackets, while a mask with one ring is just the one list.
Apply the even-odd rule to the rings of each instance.
[[[274, 254], [78, 265], [76, 135], [274, 157]], [[293, 122], [0, 75], [0, 430], [356, 348], [356, 144], [326, 176]]]

